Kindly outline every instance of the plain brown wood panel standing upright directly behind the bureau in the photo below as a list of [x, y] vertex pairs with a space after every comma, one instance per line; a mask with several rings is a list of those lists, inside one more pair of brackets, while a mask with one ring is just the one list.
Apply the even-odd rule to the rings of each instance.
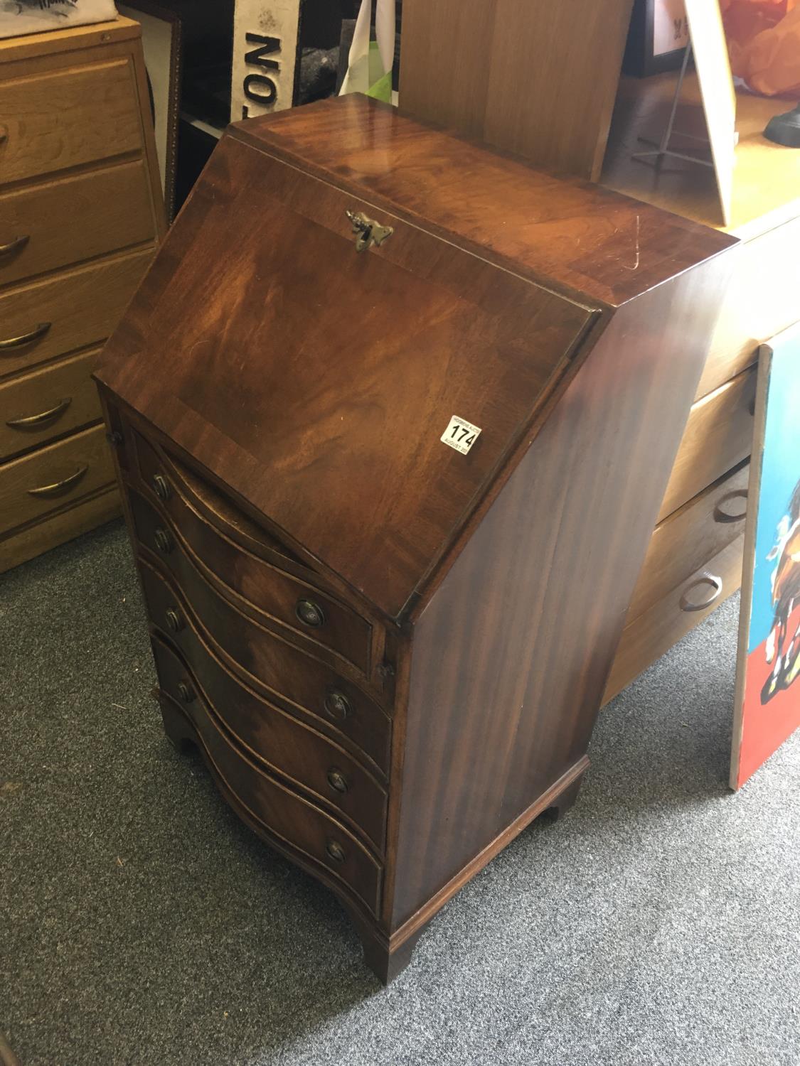
[[631, 0], [405, 0], [400, 102], [596, 180], [630, 11]]

